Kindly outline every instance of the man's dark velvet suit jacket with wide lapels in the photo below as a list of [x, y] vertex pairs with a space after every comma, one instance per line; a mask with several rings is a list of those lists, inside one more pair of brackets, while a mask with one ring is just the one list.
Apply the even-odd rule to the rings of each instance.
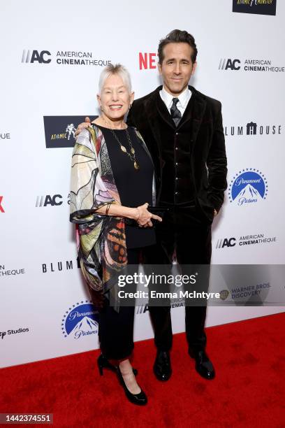
[[[189, 86], [192, 93], [192, 108], [186, 108], [182, 120], [175, 127], [166, 106], [165, 108], [158, 106], [161, 89], [162, 86], [157, 87], [154, 92], [134, 101], [127, 120], [128, 124], [136, 127], [142, 134], [152, 155], [156, 172], [157, 205], [159, 205], [161, 187], [168, 186], [168, 183], [162, 183], [162, 171], [165, 164], [162, 150], [163, 140], [168, 136], [173, 138], [177, 132], [180, 134], [180, 138], [183, 138], [184, 147], [185, 143], [189, 144], [190, 157], [187, 159], [190, 159], [191, 162], [191, 179], [196, 202], [206, 217], [212, 221], [214, 209], [219, 211], [223, 204], [224, 191], [227, 185], [221, 103]], [[161, 126], [163, 124], [161, 117], [165, 126]], [[192, 121], [191, 127], [187, 126], [189, 120]], [[186, 128], [191, 129], [191, 131], [185, 132], [184, 129]], [[170, 130], [168, 134], [166, 134], [166, 129]]]

